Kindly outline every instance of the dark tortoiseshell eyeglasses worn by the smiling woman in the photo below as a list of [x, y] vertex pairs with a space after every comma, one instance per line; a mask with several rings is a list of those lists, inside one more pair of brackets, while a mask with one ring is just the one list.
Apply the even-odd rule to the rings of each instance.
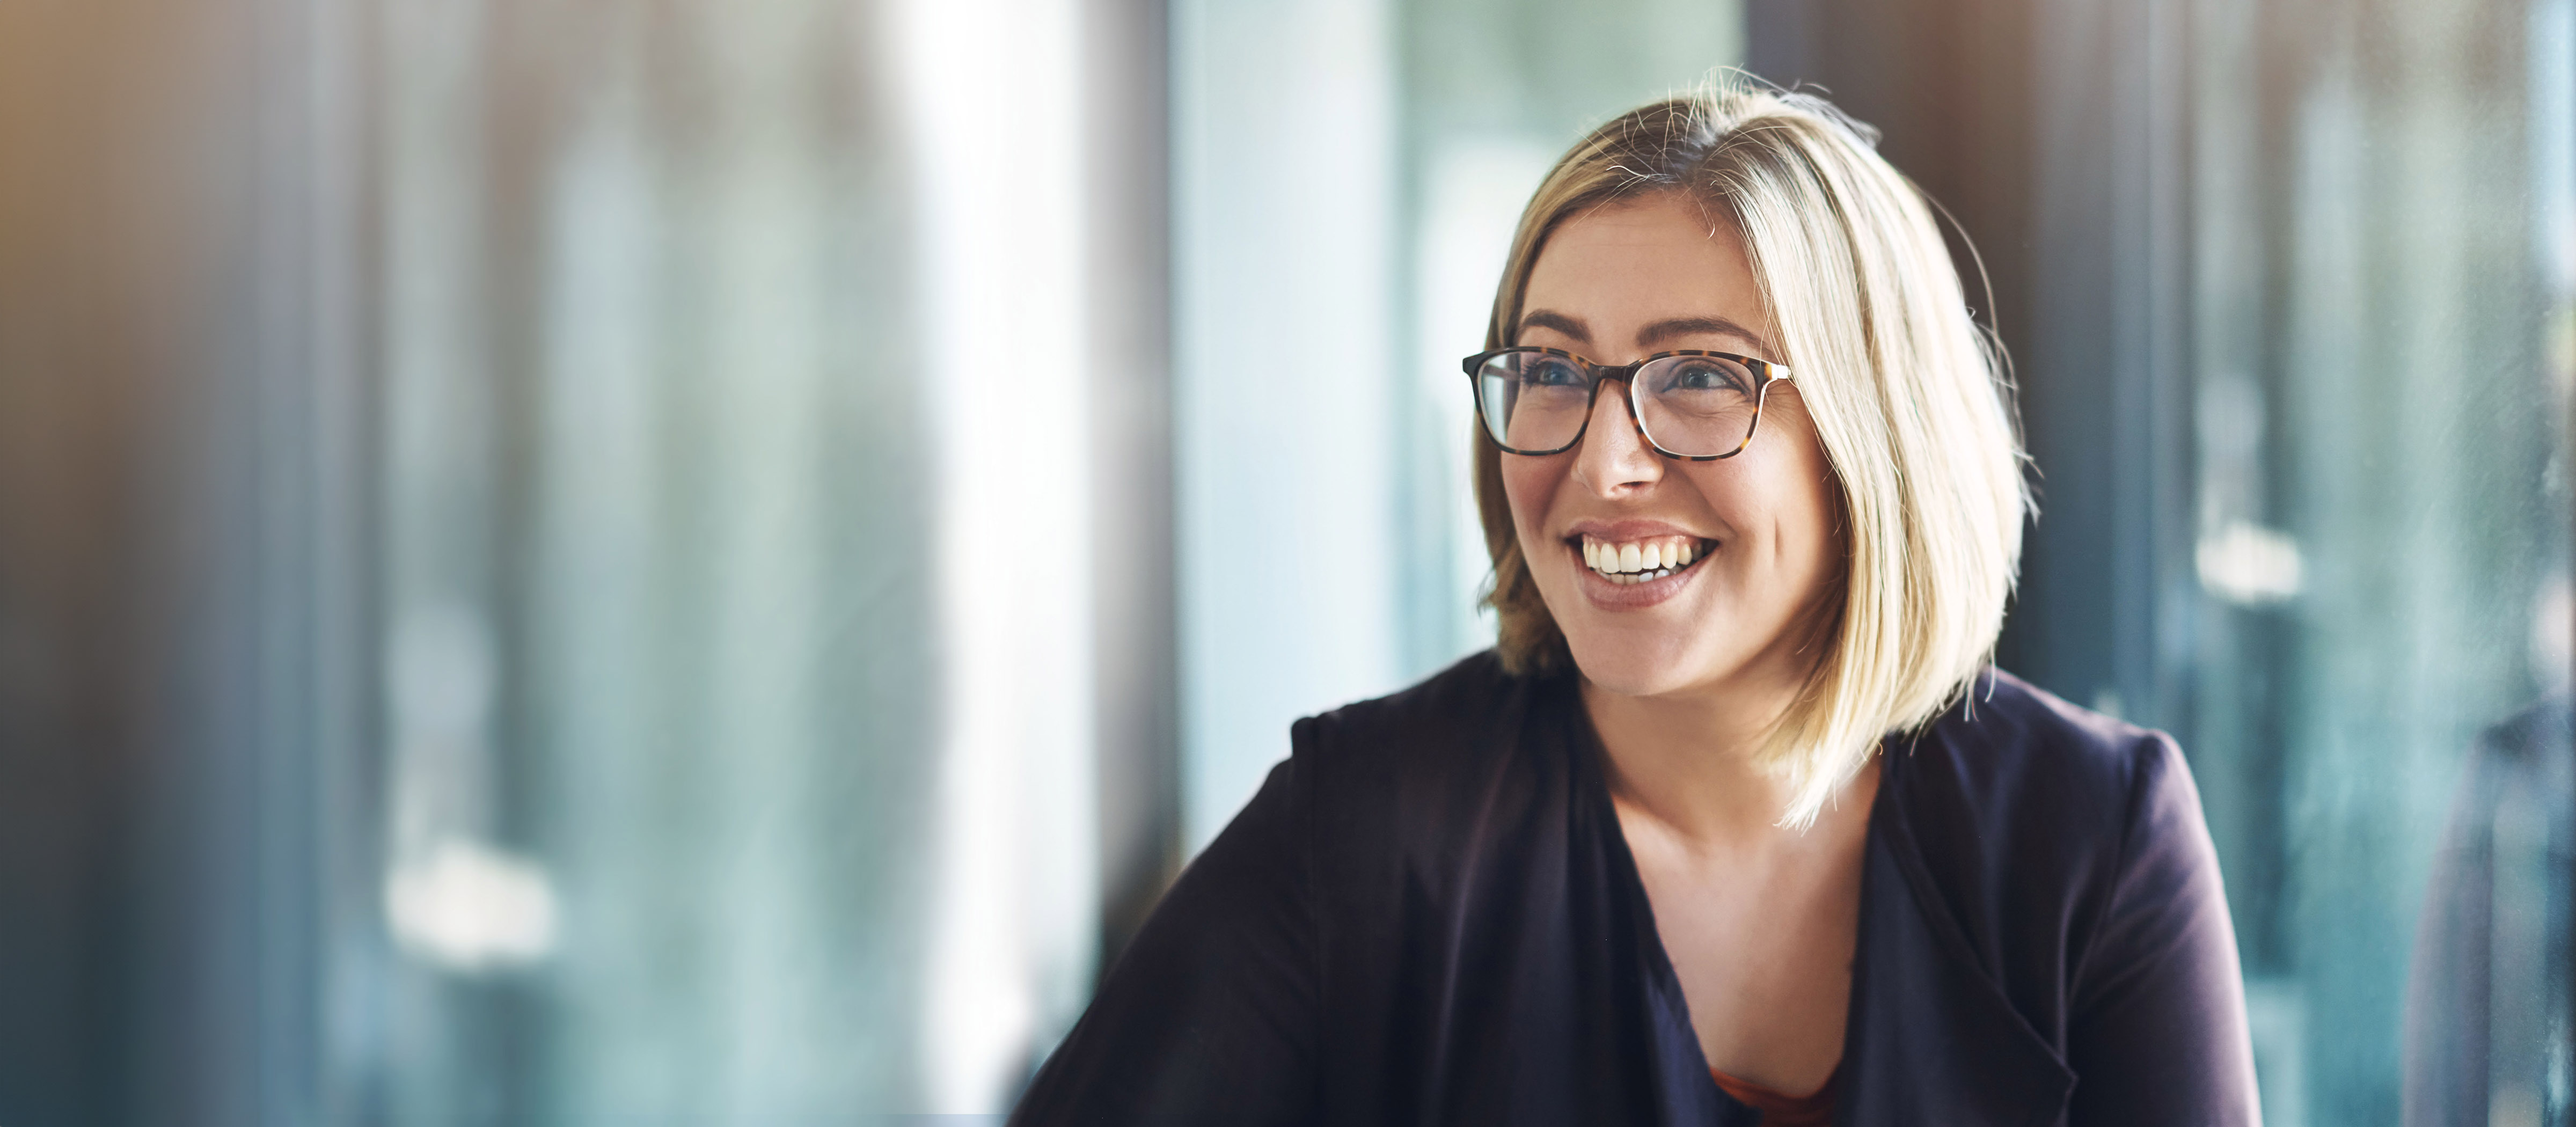
[[1718, 461], [1744, 453], [1762, 425], [1762, 399], [1788, 368], [1734, 353], [1656, 353], [1600, 365], [1553, 347], [1502, 347], [1461, 360], [1476, 386], [1476, 417], [1507, 453], [1548, 455], [1582, 443], [1602, 381], [1628, 383], [1628, 419], [1664, 458]]

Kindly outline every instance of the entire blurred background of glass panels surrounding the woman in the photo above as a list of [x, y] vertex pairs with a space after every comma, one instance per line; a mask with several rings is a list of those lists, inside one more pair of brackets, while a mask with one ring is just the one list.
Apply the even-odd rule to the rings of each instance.
[[0, 1122], [1007, 1109], [1718, 64], [1981, 252], [2267, 1119], [2566, 1124], [2576, 0], [0, 3]]

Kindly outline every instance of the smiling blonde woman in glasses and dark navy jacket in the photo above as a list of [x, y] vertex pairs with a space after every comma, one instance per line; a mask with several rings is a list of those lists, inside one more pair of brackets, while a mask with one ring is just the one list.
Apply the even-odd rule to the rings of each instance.
[[1862, 126], [1602, 126], [1486, 347], [1499, 646], [1301, 720], [1015, 1122], [2257, 1122], [2179, 751], [1986, 666], [2009, 407]]

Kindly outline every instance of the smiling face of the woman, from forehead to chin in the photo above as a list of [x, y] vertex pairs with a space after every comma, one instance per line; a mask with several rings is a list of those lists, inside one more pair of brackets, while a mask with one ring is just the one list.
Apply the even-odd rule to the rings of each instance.
[[[1716, 226], [1669, 193], [1564, 221], [1530, 270], [1517, 342], [1605, 365], [1682, 347], [1780, 360], [1744, 244]], [[1623, 391], [1602, 386], [1571, 450], [1502, 455], [1520, 551], [1574, 664], [1620, 695], [1795, 684], [1842, 576], [1837, 489], [1795, 383], [1772, 383], [1752, 445], [1721, 461], [1654, 453]], [[1584, 564], [1587, 540], [1667, 561], [1687, 548], [1690, 564], [1613, 579]]]

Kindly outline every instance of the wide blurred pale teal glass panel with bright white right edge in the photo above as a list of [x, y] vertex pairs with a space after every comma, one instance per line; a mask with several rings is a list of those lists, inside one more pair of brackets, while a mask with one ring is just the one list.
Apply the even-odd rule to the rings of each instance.
[[363, 1106], [999, 1112], [1097, 929], [1074, 8], [374, 18]]

